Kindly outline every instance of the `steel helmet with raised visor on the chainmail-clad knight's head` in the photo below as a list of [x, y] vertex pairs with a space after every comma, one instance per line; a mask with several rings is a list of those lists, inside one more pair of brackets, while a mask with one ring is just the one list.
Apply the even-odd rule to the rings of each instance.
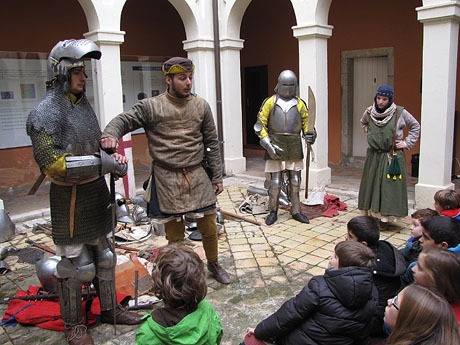
[[85, 66], [85, 58], [99, 60], [101, 55], [99, 47], [91, 40], [59, 41], [48, 57], [48, 80], [58, 75], [67, 76], [72, 68]]

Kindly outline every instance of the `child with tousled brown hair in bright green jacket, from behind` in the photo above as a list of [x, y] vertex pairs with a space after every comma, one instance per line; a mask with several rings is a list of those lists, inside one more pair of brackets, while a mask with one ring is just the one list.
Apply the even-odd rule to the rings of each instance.
[[144, 316], [136, 345], [220, 344], [222, 327], [204, 300], [206, 274], [200, 257], [184, 245], [161, 248], [153, 261], [152, 290], [164, 306]]

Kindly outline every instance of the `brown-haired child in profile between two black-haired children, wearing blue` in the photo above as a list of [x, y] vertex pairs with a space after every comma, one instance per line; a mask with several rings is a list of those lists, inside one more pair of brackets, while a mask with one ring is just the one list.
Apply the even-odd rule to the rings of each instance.
[[420, 238], [422, 237], [422, 222], [430, 218], [439, 216], [439, 212], [431, 208], [423, 208], [411, 214], [412, 225], [410, 227], [412, 235], [407, 241], [406, 247], [400, 249], [401, 254], [406, 259], [406, 266], [417, 261], [417, 258], [422, 251], [420, 247]]

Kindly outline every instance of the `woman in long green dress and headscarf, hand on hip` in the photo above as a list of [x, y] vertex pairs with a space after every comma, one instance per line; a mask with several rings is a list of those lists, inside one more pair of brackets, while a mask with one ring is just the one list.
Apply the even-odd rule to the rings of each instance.
[[[420, 134], [418, 121], [404, 107], [396, 106], [393, 96], [391, 86], [380, 86], [374, 104], [361, 118], [369, 146], [359, 187], [358, 208], [366, 215], [380, 218], [381, 228], [386, 228], [389, 221], [407, 216], [404, 149], [411, 149]], [[403, 138], [405, 127], [409, 132]]]

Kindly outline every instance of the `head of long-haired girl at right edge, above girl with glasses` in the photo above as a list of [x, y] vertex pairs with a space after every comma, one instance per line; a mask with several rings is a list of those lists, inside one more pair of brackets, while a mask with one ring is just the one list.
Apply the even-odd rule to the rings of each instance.
[[450, 303], [460, 322], [460, 255], [441, 248], [428, 248], [414, 267], [417, 284], [438, 291]]

